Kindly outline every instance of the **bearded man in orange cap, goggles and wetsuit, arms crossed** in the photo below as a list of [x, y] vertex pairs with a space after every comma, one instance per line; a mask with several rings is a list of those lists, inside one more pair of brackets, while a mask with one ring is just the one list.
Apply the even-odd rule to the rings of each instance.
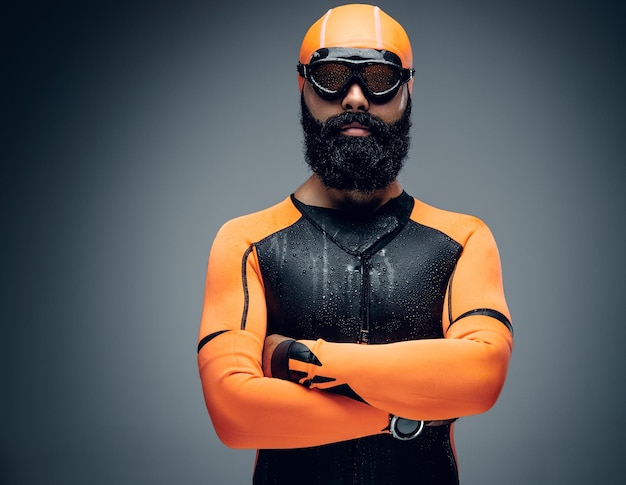
[[398, 181], [414, 74], [398, 22], [331, 9], [299, 61], [312, 174], [209, 257], [213, 425], [258, 450], [255, 484], [458, 484], [454, 421], [493, 406], [513, 347], [496, 244]]

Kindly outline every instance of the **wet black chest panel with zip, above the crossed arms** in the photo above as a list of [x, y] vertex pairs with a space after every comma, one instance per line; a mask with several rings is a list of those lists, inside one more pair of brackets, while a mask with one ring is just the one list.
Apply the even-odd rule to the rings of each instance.
[[412, 197], [365, 220], [294, 203], [303, 217], [256, 244], [268, 334], [372, 344], [442, 337], [462, 248], [409, 220]]

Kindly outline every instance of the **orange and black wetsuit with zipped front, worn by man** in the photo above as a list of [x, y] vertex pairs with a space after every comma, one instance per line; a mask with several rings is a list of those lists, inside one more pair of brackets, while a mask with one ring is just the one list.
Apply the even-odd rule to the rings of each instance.
[[[206, 404], [226, 445], [259, 450], [254, 483], [456, 484], [450, 420], [496, 401], [509, 319], [479, 219], [406, 193], [360, 220], [292, 196], [215, 239], [198, 345]], [[308, 354], [280, 378], [263, 375], [270, 334]], [[400, 441], [390, 414], [427, 426]]]

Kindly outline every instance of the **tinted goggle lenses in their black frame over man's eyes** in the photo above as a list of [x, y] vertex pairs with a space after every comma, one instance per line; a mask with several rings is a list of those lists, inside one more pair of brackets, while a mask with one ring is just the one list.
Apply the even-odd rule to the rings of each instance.
[[357, 82], [372, 99], [393, 97], [400, 86], [411, 79], [412, 71], [385, 63], [348, 64], [318, 62], [302, 66], [301, 74], [326, 99], [344, 95], [348, 87]]

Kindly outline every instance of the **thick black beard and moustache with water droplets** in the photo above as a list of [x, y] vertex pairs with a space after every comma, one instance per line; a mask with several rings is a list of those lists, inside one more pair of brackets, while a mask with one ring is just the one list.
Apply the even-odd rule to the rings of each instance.
[[[409, 152], [411, 99], [402, 117], [388, 124], [367, 112], [346, 111], [317, 121], [300, 100], [304, 157], [326, 187], [370, 193], [388, 187], [398, 176]], [[360, 123], [369, 136], [346, 136], [341, 128]]]

